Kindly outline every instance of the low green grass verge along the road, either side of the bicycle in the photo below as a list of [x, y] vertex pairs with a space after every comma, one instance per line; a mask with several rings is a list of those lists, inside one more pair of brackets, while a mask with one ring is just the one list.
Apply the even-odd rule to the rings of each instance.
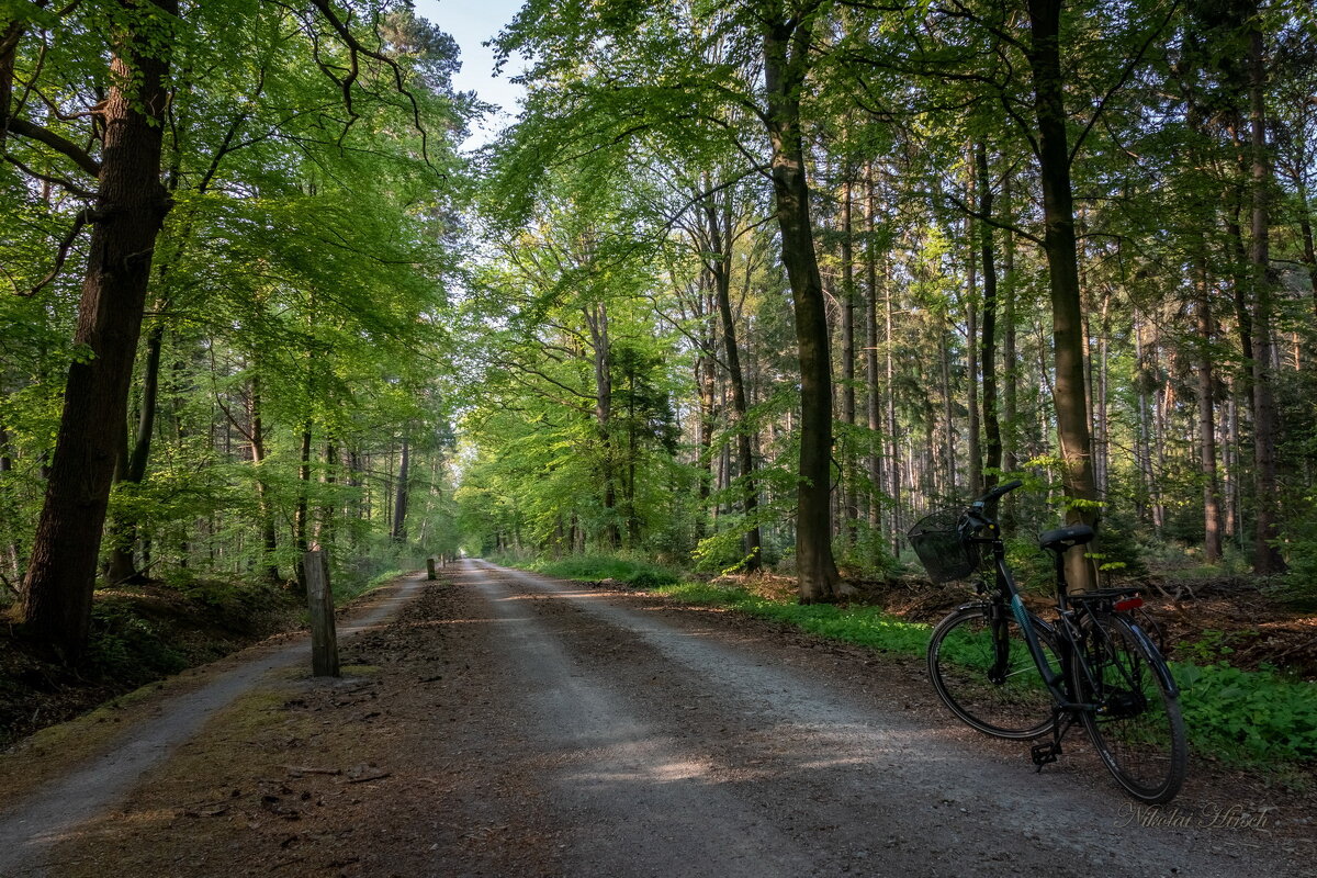
[[[686, 604], [726, 607], [822, 637], [902, 656], [923, 656], [930, 625], [874, 607], [802, 606], [740, 588], [680, 583], [655, 588]], [[1317, 683], [1275, 671], [1172, 662], [1191, 748], [1235, 766], [1310, 766], [1317, 760]]]

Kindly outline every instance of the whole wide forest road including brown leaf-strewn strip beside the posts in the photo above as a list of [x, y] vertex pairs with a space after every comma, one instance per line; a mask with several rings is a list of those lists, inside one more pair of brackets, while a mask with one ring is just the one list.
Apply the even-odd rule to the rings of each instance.
[[[957, 728], [917, 663], [644, 595], [468, 562], [345, 652], [337, 683], [267, 671], [66, 821], [43, 874], [1237, 878], [1317, 853], [1279, 792], [1139, 815], [1083, 752], [1039, 775]], [[1237, 804], [1271, 811], [1202, 825]]]

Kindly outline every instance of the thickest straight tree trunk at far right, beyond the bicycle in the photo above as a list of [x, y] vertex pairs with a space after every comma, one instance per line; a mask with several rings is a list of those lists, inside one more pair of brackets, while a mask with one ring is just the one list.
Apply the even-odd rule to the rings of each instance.
[[[1256, 11], [1255, 11], [1256, 12]], [[1249, 22], [1249, 128], [1252, 134], [1252, 459], [1254, 519], [1252, 570], [1259, 575], [1283, 573], [1285, 561], [1276, 548], [1280, 504], [1276, 496], [1276, 436], [1280, 432], [1271, 362], [1271, 159], [1267, 155], [1267, 71], [1262, 29], [1256, 14]]]

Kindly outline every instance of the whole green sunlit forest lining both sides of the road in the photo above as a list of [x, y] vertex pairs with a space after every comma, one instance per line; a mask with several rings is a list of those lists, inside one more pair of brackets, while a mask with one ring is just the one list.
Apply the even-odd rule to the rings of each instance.
[[[440, 7], [440, 12], [443, 7]], [[493, 25], [491, 25], [493, 28]], [[0, 606], [439, 554], [1317, 595], [1317, 14], [528, 0], [515, 121], [383, 0], [7, 0]]]

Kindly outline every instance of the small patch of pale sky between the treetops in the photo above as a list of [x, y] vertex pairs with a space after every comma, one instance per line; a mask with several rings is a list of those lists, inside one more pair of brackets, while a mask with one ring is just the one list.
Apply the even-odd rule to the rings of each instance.
[[473, 149], [493, 140], [510, 121], [508, 117], [516, 115], [516, 101], [524, 90], [508, 82], [510, 76], [519, 72], [516, 61], [510, 62], [503, 75], [495, 78], [494, 50], [481, 43], [498, 34], [516, 16], [522, 0], [415, 0], [415, 5], [416, 14], [452, 34], [462, 47], [462, 68], [453, 76], [453, 88], [474, 90], [481, 100], [498, 104], [507, 115], [495, 115], [478, 124], [464, 147]]

